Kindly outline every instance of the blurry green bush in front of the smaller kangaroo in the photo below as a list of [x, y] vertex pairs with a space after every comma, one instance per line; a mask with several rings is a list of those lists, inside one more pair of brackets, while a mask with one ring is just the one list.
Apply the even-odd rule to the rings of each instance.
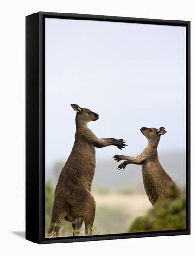
[[128, 232], [186, 229], [186, 195], [175, 201], [156, 202], [148, 214], [137, 218]]

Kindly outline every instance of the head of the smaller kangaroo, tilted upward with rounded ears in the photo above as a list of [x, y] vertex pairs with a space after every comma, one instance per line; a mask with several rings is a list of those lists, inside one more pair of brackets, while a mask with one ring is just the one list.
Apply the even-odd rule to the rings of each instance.
[[159, 129], [142, 127], [140, 131], [150, 141], [159, 141], [160, 135], [164, 135], [167, 132], [163, 126]]

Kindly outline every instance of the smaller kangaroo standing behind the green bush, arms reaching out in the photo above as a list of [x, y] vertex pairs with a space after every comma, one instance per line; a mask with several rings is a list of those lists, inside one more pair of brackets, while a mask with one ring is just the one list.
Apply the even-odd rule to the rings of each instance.
[[[148, 139], [148, 146], [136, 157], [114, 155], [113, 158], [117, 162], [126, 160], [118, 166], [118, 169], [124, 170], [130, 163], [142, 165], [143, 184], [152, 205], [158, 200], [175, 199], [179, 195], [179, 189], [161, 166], [157, 153], [160, 137], [166, 133], [165, 128], [142, 127], [140, 131]], [[174, 195], [169, 193], [171, 188], [174, 188]]]

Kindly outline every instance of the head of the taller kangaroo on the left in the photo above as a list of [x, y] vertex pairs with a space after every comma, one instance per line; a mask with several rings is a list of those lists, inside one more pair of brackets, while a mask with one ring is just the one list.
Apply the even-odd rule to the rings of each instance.
[[81, 124], [96, 121], [99, 115], [88, 108], [80, 108], [77, 104], [71, 104], [71, 107], [77, 112], [76, 120]]

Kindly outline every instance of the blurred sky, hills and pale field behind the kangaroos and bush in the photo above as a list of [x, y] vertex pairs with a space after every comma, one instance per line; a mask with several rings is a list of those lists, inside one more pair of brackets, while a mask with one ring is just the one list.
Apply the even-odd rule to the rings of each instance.
[[[45, 22], [45, 227], [54, 189], [74, 143], [75, 112], [89, 108], [100, 138], [124, 138], [128, 147], [97, 148], [91, 193], [94, 234], [125, 233], [152, 208], [141, 167], [118, 171], [113, 154], [136, 156], [146, 147], [142, 126], [164, 126], [158, 153], [173, 180], [185, 186], [185, 28], [47, 18]], [[63, 222], [62, 236], [72, 235]]]

